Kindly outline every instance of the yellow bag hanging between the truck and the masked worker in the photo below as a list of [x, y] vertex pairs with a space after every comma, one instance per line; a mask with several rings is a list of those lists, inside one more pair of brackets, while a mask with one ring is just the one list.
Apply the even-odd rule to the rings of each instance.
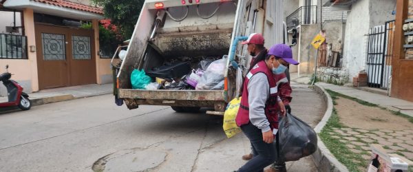
[[240, 127], [237, 126], [237, 122], [235, 122], [235, 118], [237, 118], [238, 109], [240, 109], [241, 97], [234, 98], [229, 102], [226, 106], [225, 114], [224, 114], [224, 132], [226, 137], [231, 138], [235, 136], [237, 133], [241, 133]]

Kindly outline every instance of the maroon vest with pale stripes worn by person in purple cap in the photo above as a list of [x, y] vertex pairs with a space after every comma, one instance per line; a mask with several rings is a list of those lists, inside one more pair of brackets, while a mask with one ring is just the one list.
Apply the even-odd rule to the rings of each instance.
[[278, 129], [278, 103], [277, 103], [277, 83], [275, 83], [275, 76], [273, 72], [266, 66], [265, 61], [261, 61], [257, 63], [251, 69], [250, 72], [245, 77], [244, 82], [244, 90], [242, 92], [242, 99], [240, 104], [240, 109], [238, 110], [237, 118], [235, 118], [235, 122], [237, 122], [237, 126], [241, 127], [242, 125], [248, 124], [249, 120], [249, 105], [248, 105], [248, 83], [251, 77], [255, 74], [264, 73], [268, 78], [268, 83], [270, 84], [270, 97], [266, 101], [265, 105], [265, 116], [270, 122], [270, 127], [272, 129]]

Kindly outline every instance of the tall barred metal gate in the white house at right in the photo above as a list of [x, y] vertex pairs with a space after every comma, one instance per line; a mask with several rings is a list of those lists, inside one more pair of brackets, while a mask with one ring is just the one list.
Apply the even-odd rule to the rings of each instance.
[[394, 21], [370, 28], [366, 72], [368, 87], [388, 89], [392, 76]]

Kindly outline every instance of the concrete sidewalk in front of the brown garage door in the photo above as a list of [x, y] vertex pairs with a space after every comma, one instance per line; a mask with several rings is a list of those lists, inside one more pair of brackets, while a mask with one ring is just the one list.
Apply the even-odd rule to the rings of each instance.
[[[86, 98], [90, 96], [100, 96], [113, 92], [113, 85], [80, 85], [74, 87], [62, 87], [56, 89], [45, 89], [40, 92], [29, 94], [32, 105], [44, 105], [47, 103], [56, 103], [77, 98]], [[7, 102], [7, 97], [0, 97], [0, 102]]]

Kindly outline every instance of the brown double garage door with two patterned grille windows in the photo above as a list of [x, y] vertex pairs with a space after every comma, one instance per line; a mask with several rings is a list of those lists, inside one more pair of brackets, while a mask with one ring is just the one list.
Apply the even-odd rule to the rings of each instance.
[[96, 83], [92, 30], [36, 24], [39, 88]]

